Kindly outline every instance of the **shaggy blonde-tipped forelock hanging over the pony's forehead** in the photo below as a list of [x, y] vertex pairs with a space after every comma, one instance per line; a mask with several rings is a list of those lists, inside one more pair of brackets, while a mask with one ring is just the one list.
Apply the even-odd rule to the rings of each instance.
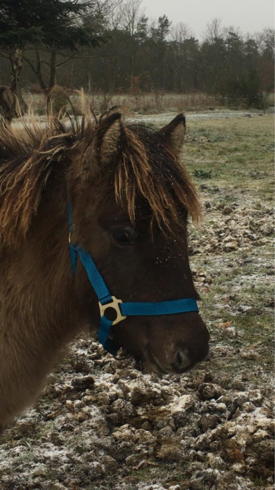
[[135, 125], [126, 128], [125, 133], [127, 145], [115, 165], [115, 189], [132, 222], [140, 197], [151, 209], [151, 229], [156, 223], [164, 233], [175, 234], [182, 226], [182, 208], [196, 222], [201, 214], [200, 202], [176, 154], [158, 132]]

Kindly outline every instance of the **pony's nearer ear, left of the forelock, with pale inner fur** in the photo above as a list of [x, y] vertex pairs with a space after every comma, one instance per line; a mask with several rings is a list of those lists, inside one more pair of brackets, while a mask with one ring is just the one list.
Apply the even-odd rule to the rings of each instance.
[[116, 112], [99, 123], [96, 130], [94, 149], [99, 164], [107, 165], [118, 150], [122, 133], [121, 114]]

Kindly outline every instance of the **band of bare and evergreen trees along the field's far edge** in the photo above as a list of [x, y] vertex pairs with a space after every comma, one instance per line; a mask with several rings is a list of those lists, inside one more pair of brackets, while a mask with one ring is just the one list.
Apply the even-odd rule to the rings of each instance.
[[243, 35], [214, 18], [199, 41], [142, 0], [0, 0], [0, 83], [88, 92], [202, 91], [262, 107], [273, 90], [274, 30]]

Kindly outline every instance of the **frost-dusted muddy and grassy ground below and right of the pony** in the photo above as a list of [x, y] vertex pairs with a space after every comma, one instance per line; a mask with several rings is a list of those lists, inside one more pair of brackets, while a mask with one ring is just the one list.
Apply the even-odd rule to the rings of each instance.
[[184, 376], [143, 375], [79, 337], [2, 434], [1, 490], [273, 488], [273, 119], [251, 116], [211, 113], [186, 136], [208, 358]]

